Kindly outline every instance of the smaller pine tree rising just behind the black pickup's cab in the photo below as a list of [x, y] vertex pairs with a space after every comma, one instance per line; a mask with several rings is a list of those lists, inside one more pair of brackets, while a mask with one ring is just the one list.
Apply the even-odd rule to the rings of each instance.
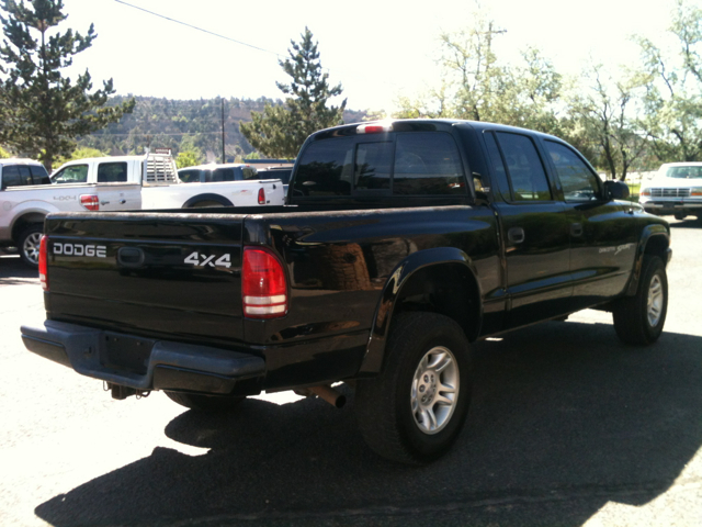
[[329, 87], [329, 74], [324, 74], [319, 61], [317, 43], [313, 42], [309, 29], [301, 35], [302, 41], [291, 41], [292, 49], [279, 64], [292, 77], [290, 85], [275, 86], [291, 96], [284, 106], [267, 104], [262, 113], [251, 112], [251, 123], [240, 123], [241, 134], [268, 157], [293, 158], [297, 156], [305, 139], [321, 128], [343, 124], [346, 99], [340, 106], [327, 106], [327, 101], [340, 96], [341, 85]]

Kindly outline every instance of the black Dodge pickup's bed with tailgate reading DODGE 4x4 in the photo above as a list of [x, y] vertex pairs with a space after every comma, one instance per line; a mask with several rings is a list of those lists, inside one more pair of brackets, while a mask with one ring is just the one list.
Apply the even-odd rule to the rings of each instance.
[[[388, 279], [410, 254], [441, 247], [445, 237], [483, 231], [483, 244], [466, 237], [465, 250], [485, 276], [484, 290], [500, 288], [496, 221], [485, 208], [315, 209], [325, 208], [54, 214], [47, 317], [260, 354], [270, 389], [309, 379], [313, 362], [314, 381], [356, 374]], [[57, 255], [56, 244], [92, 244], [105, 257]], [[280, 255], [290, 280], [288, 316], [244, 317], [247, 245]]]

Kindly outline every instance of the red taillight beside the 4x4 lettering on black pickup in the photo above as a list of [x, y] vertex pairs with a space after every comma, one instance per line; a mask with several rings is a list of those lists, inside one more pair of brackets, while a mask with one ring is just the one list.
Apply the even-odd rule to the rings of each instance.
[[270, 250], [244, 248], [241, 296], [244, 315], [249, 318], [274, 318], [287, 313], [285, 271]]

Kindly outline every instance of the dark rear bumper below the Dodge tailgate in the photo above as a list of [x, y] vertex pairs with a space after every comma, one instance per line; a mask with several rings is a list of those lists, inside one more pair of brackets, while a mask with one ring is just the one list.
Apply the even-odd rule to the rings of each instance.
[[78, 373], [137, 390], [228, 394], [238, 382], [263, 379], [262, 357], [168, 340], [154, 340], [46, 321], [22, 326], [30, 351]]

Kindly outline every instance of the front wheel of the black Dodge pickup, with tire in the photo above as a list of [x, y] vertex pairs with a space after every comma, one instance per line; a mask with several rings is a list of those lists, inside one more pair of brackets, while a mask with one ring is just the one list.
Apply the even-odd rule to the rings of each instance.
[[631, 345], [655, 343], [663, 333], [668, 312], [666, 266], [657, 256], [644, 256], [638, 289], [620, 299], [612, 311], [619, 338]]

